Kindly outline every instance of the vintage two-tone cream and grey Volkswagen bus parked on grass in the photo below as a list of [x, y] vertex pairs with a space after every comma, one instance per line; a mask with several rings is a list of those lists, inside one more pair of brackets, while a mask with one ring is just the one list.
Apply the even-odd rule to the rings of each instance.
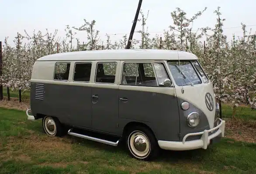
[[49, 136], [73, 135], [150, 160], [159, 149], [207, 149], [224, 137], [211, 81], [194, 54], [91, 50], [35, 61], [28, 120]]

